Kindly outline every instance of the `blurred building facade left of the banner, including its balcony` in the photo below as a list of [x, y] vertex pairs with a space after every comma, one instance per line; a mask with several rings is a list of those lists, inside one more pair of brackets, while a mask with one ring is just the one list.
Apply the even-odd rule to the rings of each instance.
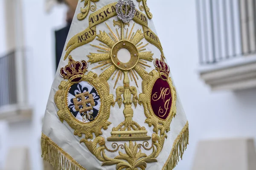
[[41, 126], [56, 71], [54, 31], [66, 26], [67, 13], [64, 4], [48, 13], [45, 5], [0, 0], [1, 170], [18, 170], [8, 164], [13, 148], [28, 150], [30, 170], [43, 170]]

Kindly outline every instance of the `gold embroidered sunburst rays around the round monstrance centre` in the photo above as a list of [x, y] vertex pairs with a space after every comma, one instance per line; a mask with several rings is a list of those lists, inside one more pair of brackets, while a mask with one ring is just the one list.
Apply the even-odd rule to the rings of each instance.
[[[118, 25], [119, 28], [121, 27], [121, 24], [118, 24], [118, 21], [113, 21], [114, 26]], [[151, 53], [151, 51], [146, 51], [146, 46], [147, 44], [143, 44], [143, 42], [141, 42], [141, 40], [143, 40], [144, 38], [144, 34], [142, 33], [141, 30], [137, 30], [136, 32], [134, 32], [134, 25], [131, 28], [131, 31], [128, 30], [128, 28], [126, 28], [126, 33], [124, 34], [124, 29], [121, 29], [121, 34], [119, 34], [119, 28], [116, 28], [116, 34], [113, 32], [113, 30], [108, 26], [107, 23], [105, 23], [106, 26], [108, 27], [108, 30], [110, 31], [108, 34], [105, 31], [100, 31], [100, 34], [97, 35], [97, 40], [99, 40], [101, 43], [99, 43], [99, 45], [92, 45], [93, 47], [98, 48], [98, 52], [99, 53], [90, 53], [90, 55], [88, 55], [87, 57], [89, 57], [88, 62], [92, 63], [97, 63], [98, 62], [98, 66], [92, 68], [92, 69], [97, 69], [100, 68], [103, 72], [100, 75], [101, 77], [104, 77], [105, 79], [111, 79], [115, 81], [115, 85], [114, 88], [116, 88], [116, 84], [119, 80], [123, 79], [123, 71], [122, 69], [120, 69], [118, 66], [116, 66], [113, 63], [113, 60], [111, 59], [111, 50], [115, 47], [116, 44], [118, 44], [119, 42], [122, 43], [123, 40], [125, 40], [126, 42], [131, 42], [134, 45], [134, 48], [137, 48], [136, 51], [138, 51], [138, 61], [133, 65], [133, 67], [131, 69], [126, 70], [128, 72], [129, 75], [129, 79], [131, 81], [134, 81], [135, 84], [138, 87], [137, 84], [137, 80], [139, 80], [139, 76], [140, 77], [144, 77], [145, 74], [147, 74], [147, 72], [145, 71], [145, 69], [147, 67], [151, 67], [150, 65], [147, 64], [147, 61], [152, 62], [153, 60], [153, 54]], [[129, 27], [129, 23], [127, 24]], [[123, 38], [122, 38], [123, 35]], [[125, 44], [124, 44], [125, 45]], [[131, 51], [130, 51], [131, 52]], [[136, 56], [136, 54], [134, 54]], [[116, 57], [114, 55], [114, 57]], [[132, 57], [132, 55], [131, 55]], [[117, 65], [119, 65], [120, 63], [117, 62]], [[122, 63], [125, 64], [125, 63]], [[126, 65], [125, 65], [126, 67]], [[113, 75], [113, 76], [112, 76]], [[139, 75], [139, 76], [138, 76]]]

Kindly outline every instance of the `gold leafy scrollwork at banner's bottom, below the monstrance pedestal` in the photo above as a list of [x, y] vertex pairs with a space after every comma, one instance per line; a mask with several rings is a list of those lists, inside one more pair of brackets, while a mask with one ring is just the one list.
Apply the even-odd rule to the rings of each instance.
[[[148, 142], [143, 142], [143, 144], [129, 142], [129, 145], [125, 143], [124, 149], [125, 153], [119, 151], [119, 156], [115, 158], [110, 158], [106, 155], [105, 150], [109, 151], [105, 145], [105, 139], [102, 136], [96, 137], [93, 141], [88, 141], [87, 139], [81, 139], [80, 143], [84, 143], [93, 155], [96, 156], [99, 161], [102, 161], [102, 166], [109, 166], [116, 164], [116, 170], [145, 170], [146, 163], [157, 162], [157, 156], [159, 156], [161, 150], [163, 149], [164, 141], [166, 135], [159, 136], [156, 133], [152, 134], [152, 146], [148, 146]], [[113, 143], [115, 144], [115, 143]], [[112, 147], [113, 147], [112, 144]], [[99, 145], [99, 147], [98, 147]], [[118, 146], [119, 147], [119, 146]], [[152, 153], [147, 156], [141, 151], [141, 147], [145, 150], [152, 150]], [[121, 147], [122, 148], [122, 147]], [[123, 149], [123, 148], [122, 148]], [[110, 150], [110, 152], [115, 152], [117, 150]]]

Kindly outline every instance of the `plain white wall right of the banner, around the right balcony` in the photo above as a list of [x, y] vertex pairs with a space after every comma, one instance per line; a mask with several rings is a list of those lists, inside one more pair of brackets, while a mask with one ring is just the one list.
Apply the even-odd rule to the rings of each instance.
[[256, 89], [211, 92], [199, 79], [195, 0], [148, 0], [189, 120], [189, 146], [175, 170], [190, 170], [201, 139], [256, 139]]

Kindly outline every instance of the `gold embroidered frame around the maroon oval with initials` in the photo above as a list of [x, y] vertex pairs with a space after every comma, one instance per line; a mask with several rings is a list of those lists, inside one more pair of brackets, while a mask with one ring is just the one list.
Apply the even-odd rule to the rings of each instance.
[[157, 117], [154, 114], [154, 111], [151, 107], [151, 92], [152, 92], [152, 88], [156, 82], [157, 79], [160, 78], [160, 74], [156, 71], [153, 70], [149, 73], [149, 75], [147, 77], [145, 77], [145, 79], [143, 79], [142, 82], [142, 91], [143, 93], [139, 95], [139, 103], [143, 104], [144, 107], [144, 113], [145, 116], [147, 117], [147, 119], [145, 120], [145, 123], [147, 123], [149, 125], [149, 127], [151, 127], [152, 125], [154, 126], [153, 131], [155, 133], [158, 133], [158, 131], [160, 130], [160, 134], [164, 135], [165, 132], [169, 132], [170, 131], [170, 125], [172, 122], [172, 118], [175, 117], [176, 115], [176, 90], [175, 87], [172, 84], [172, 79], [169, 77], [166, 81], [168, 82], [169, 86], [170, 86], [170, 91], [172, 94], [172, 106], [171, 106], [171, 110], [169, 113], [169, 116], [164, 120], [164, 119], [160, 119], [159, 117]]

